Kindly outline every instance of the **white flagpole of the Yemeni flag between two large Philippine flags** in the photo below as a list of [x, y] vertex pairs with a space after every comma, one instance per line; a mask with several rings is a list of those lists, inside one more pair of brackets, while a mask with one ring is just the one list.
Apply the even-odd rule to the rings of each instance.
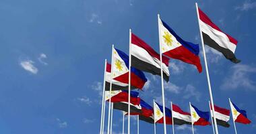
[[128, 89], [128, 134], [130, 134], [131, 115], [131, 29], [129, 29], [129, 89]]

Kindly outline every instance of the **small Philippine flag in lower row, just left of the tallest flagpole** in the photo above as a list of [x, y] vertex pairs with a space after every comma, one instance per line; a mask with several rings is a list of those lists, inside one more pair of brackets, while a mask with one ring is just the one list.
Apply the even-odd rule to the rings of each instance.
[[210, 112], [199, 111], [199, 109], [193, 105], [190, 105], [190, 112], [193, 125], [210, 125]]

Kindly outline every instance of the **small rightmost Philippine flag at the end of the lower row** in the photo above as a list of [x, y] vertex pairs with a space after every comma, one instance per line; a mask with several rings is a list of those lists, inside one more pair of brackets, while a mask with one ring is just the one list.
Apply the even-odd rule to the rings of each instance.
[[232, 111], [232, 117], [234, 122], [249, 124], [251, 121], [247, 118], [247, 113], [244, 110], [239, 109], [234, 103], [230, 101], [230, 107]]

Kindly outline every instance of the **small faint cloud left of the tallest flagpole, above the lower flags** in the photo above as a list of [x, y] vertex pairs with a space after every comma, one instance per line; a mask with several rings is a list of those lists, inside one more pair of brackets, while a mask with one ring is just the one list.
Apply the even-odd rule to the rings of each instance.
[[200, 97], [201, 97], [201, 93], [196, 90], [195, 86], [188, 84], [184, 90], [184, 96], [183, 98], [195, 98], [195, 100], [199, 101]]

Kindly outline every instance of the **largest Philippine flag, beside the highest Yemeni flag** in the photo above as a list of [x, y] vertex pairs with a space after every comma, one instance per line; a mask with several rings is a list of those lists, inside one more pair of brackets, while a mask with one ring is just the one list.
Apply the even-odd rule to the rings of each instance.
[[164, 21], [159, 20], [160, 23], [160, 40], [162, 54], [181, 60], [188, 64], [193, 64], [197, 67], [198, 72], [202, 72], [200, 62], [199, 45], [191, 42], [186, 42], [181, 39], [175, 31], [173, 31]]

